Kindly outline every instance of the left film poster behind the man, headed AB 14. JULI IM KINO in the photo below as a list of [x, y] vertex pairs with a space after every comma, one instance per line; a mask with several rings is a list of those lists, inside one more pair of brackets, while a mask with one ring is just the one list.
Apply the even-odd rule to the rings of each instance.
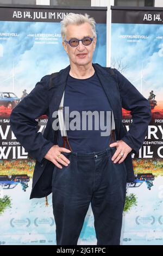
[[[41, 77], [64, 69], [69, 60], [60, 34], [60, 21], [69, 13], [87, 13], [97, 22], [93, 62], [106, 65], [106, 8], [32, 7], [0, 8], [0, 243], [54, 245], [52, 196], [29, 200], [35, 160], [17, 143], [10, 129], [12, 107], [34, 88]], [[38, 118], [38, 131], [47, 123]], [[90, 217], [91, 216], [91, 217]], [[89, 211], [79, 243], [95, 243]]]

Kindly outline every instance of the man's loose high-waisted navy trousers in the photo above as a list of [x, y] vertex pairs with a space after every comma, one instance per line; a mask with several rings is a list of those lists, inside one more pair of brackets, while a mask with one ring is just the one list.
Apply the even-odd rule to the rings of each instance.
[[111, 160], [115, 150], [62, 153], [70, 164], [55, 166], [52, 178], [57, 245], [77, 245], [90, 203], [97, 245], [120, 245], [127, 172]]

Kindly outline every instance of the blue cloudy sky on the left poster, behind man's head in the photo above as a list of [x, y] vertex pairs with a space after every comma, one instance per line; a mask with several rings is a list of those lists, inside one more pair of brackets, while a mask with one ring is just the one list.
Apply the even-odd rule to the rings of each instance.
[[[69, 65], [68, 56], [61, 44], [60, 23], [1, 21], [0, 28], [1, 91], [12, 92], [14, 87], [17, 96], [21, 96], [24, 89], [29, 93], [42, 76]], [[93, 62], [105, 66], [106, 25], [97, 24], [96, 29], [98, 39]], [[7, 36], [2, 33], [15, 34]], [[37, 33], [54, 35], [35, 36]]]

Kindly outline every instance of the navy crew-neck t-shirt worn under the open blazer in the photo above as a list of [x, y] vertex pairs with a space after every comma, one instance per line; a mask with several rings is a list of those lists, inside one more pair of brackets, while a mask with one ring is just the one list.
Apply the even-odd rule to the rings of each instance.
[[[68, 115], [65, 116], [65, 113], [68, 113], [67, 110], [65, 112], [65, 108], [64, 117], [67, 129], [67, 125], [70, 126], [67, 130], [67, 137], [73, 152], [91, 153], [108, 148], [111, 106], [96, 72], [86, 79], [77, 79], [68, 75], [64, 107], [69, 107], [69, 109], [67, 108], [69, 117]], [[93, 115], [94, 111], [96, 111], [96, 118]], [[100, 122], [100, 119], [103, 121]], [[106, 124], [109, 124], [107, 133]], [[101, 132], [105, 136], [101, 136]], [[62, 147], [62, 143], [63, 140], [59, 130], [57, 144]]]

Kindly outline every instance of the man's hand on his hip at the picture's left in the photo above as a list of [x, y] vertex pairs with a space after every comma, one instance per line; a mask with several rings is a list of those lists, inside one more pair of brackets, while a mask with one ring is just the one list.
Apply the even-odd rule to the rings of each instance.
[[62, 166], [59, 163], [62, 163], [64, 166], [68, 166], [70, 161], [63, 154], [58, 157], [61, 152], [70, 153], [71, 151], [66, 148], [61, 148], [59, 145], [53, 145], [44, 158], [54, 163], [58, 168], [62, 169]]

